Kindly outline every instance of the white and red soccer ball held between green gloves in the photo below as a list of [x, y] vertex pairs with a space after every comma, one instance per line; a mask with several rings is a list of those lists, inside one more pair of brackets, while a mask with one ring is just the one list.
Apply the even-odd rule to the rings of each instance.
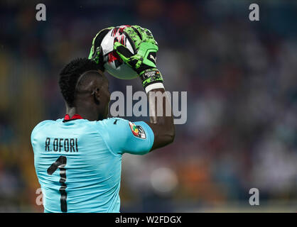
[[107, 35], [104, 36], [101, 47], [103, 52], [104, 68], [112, 74], [112, 76], [119, 79], [134, 79], [138, 77], [138, 74], [126, 65], [121, 60], [121, 57], [114, 50], [114, 43], [119, 42], [126, 46], [133, 54], [135, 53], [129, 39], [126, 38], [124, 28], [128, 26], [117, 26], [110, 30]]

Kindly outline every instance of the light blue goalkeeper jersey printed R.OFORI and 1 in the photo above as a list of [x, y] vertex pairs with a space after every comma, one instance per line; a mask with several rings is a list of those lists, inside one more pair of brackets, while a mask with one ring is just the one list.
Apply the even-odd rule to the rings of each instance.
[[42, 121], [33, 129], [34, 165], [45, 212], [119, 212], [121, 156], [144, 155], [153, 131], [139, 121]]

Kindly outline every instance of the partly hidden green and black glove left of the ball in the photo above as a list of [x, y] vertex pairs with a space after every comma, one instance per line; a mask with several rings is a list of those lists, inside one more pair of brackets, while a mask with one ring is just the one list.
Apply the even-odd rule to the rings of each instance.
[[104, 38], [104, 36], [112, 30], [114, 27], [104, 28], [99, 33], [95, 35], [95, 38], [93, 38], [92, 42], [92, 48], [90, 50], [89, 59], [94, 60], [99, 65], [99, 70], [104, 72], [104, 63], [103, 63], [103, 53], [101, 48], [101, 43]]

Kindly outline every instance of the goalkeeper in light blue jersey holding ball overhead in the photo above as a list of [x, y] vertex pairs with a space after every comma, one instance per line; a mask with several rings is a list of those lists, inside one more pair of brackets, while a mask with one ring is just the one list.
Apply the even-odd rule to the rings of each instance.
[[[107, 118], [110, 94], [100, 44], [110, 29], [97, 33], [89, 59], [73, 60], [60, 73], [65, 117], [42, 121], [31, 133], [45, 212], [119, 212], [122, 155], [144, 155], [175, 137], [173, 116], [166, 116], [170, 104], [163, 77], [156, 67], [158, 45], [140, 26], [124, 29], [135, 55], [117, 42], [114, 50], [139, 74], [152, 116], [149, 122], [134, 123]], [[163, 101], [158, 103], [151, 92]]]

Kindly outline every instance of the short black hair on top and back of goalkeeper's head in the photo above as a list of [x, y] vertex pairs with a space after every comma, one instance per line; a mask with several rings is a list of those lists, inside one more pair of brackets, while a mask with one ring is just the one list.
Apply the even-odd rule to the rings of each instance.
[[87, 58], [77, 58], [72, 60], [60, 72], [59, 86], [68, 106], [74, 106], [77, 79], [84, 72], [90, 70], [99, 70], [96, 62]]

